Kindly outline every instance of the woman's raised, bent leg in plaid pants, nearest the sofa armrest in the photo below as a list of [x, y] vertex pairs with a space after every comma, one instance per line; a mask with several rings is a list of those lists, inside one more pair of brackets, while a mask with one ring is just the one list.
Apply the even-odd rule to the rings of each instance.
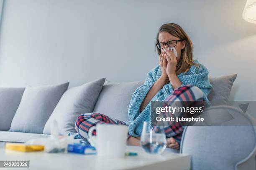
[[[166, 105], [172, 105], [175, 101], [204, 101], [204, 94], [200, 88], [194, 85], [184, 85], [174, 89], [171, 95], [166, 98]], [[189, 103], [189, 102], [188, 102]], [[170, 125], [165, 127], [167, 138], [173, 137], [178, 143], [181, 141], [182, 125]]]

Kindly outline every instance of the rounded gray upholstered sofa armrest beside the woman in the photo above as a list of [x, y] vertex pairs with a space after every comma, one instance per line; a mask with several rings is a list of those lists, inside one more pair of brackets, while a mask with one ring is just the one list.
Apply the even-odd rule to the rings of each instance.
[[247, 122], [234, 125], [230, 122], [219, 126], [187, 126], [182, 134], [180, 153], [192, 157], [192, 170], [236, 170], [256, 150], [256, 134], [251, 120], [238, 108], [214, 106], [205, 109], [211, 117], [228, 112], [231, 121]]

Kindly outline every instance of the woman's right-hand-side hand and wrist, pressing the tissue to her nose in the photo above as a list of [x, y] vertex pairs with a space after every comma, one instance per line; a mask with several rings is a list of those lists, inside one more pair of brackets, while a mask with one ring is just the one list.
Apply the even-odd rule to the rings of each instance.
[[165, 50], [166, 52], [166, 59], [167, 59], [167, 66], [166, 66], [166, 74], [168, 75], [168, 77], [176, 75], [176, 66], [177, 66], [177, 59], [173, 53], [172, 50], [169, 50], [169, 48], [167, 48], [167, 50]]

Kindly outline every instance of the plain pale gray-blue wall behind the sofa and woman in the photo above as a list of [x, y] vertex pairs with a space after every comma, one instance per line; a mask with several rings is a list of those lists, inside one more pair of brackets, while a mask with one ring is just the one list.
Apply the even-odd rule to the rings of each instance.
[[158, 28], [178, 23], [210, 76], [237, 73], [230, 100], [256, 100], [256, 25], [246, 0], [5, 0], [0, 86], [143, 80]]

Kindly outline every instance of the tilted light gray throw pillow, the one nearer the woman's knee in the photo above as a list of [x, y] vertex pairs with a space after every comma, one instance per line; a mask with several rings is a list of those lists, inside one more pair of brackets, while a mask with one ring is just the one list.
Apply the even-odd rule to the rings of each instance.
[[102, 78], [67, 90], [46, 122], [44, 134], [50, 134], [53, 120], [58, 122], [60, 135], [76, 132], [74, 124], [77, 117], [93, 111], [104, 82], [105, 78]]

